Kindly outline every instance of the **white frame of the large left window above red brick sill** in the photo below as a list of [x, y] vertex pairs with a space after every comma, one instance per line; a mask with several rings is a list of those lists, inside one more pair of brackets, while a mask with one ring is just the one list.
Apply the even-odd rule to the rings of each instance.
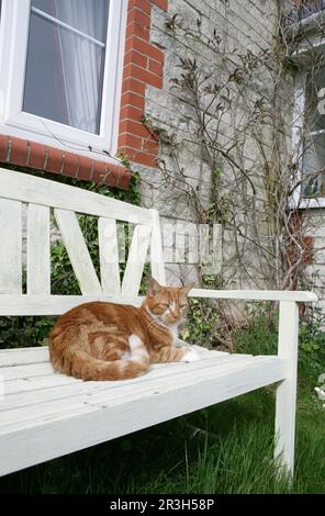
[[[117, 150], [127, 0], [111, 0], [99, 134], [22, 111], [31, 0], [2, 0], [0, 22], [0, 134], [110, 161]], [[93, 152], [90, 152], [90, 148]], [[102, 153], [104, 150], [104, 153]], [[97, 156], [99, 158], [99, 156]]]

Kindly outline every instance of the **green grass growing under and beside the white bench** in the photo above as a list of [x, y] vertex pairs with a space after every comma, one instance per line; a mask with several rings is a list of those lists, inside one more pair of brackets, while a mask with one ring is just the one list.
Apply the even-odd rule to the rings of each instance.
[[[325, 363], [320, 355], [323, 348], [306, 351], [304, 343], [303, 338], [291, 486], [285, 478], [277, 478], [272, 459], [274, 390], [266, 388], [4, 476], [0, 492], [325, 493], [325, 410], [314, 393]], [[238, 334], [237, 346], [248, 352], [269, 352], [274, 335], [257, 318]]]

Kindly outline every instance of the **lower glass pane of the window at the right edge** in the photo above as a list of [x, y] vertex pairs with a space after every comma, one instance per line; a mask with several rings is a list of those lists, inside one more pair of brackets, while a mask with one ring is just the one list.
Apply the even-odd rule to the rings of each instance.
[[325, 195], [325, 134], [307, 137], [303, 156], [304, 197]]

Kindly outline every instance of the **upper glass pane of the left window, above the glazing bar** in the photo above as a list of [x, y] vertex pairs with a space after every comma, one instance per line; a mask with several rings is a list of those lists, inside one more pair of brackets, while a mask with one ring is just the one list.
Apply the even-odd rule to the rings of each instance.
[[32, 7], [105, 43], [110, 0], [32, 0]]

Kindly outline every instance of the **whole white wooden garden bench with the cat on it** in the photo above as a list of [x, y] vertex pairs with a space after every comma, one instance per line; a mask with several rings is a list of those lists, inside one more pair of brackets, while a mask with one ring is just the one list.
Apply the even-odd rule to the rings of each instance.
[[[27, 205], [26, 294], [22, 293], [23, 204]], [[52, 210], [82, 295], [51, 294]], [[76, 213], [99, 217], [100, 280]], [[122, 285], [116, 220], [135, 224]], [[152, 274], [164, 284], [157, 211], [0, 169], [0, 316], [58, 315], [92, 300], [139, 305], [138, 290], [148, 248]], [[122, 382], [82, 382], [53, 372], [47, 348], [1, 350], [3, 396], [0, 400], [0, 474], [139, 430], [276, 382], [276, 456], [280, 464], [292, 472], [298, 302], [316, 301], [315, 294], [194, 289], [191, 295], [279, 300], [278, 355], [253, 357], [200, 348], [201, 360], [198, 362], [157, 364], [145, 375]]]

